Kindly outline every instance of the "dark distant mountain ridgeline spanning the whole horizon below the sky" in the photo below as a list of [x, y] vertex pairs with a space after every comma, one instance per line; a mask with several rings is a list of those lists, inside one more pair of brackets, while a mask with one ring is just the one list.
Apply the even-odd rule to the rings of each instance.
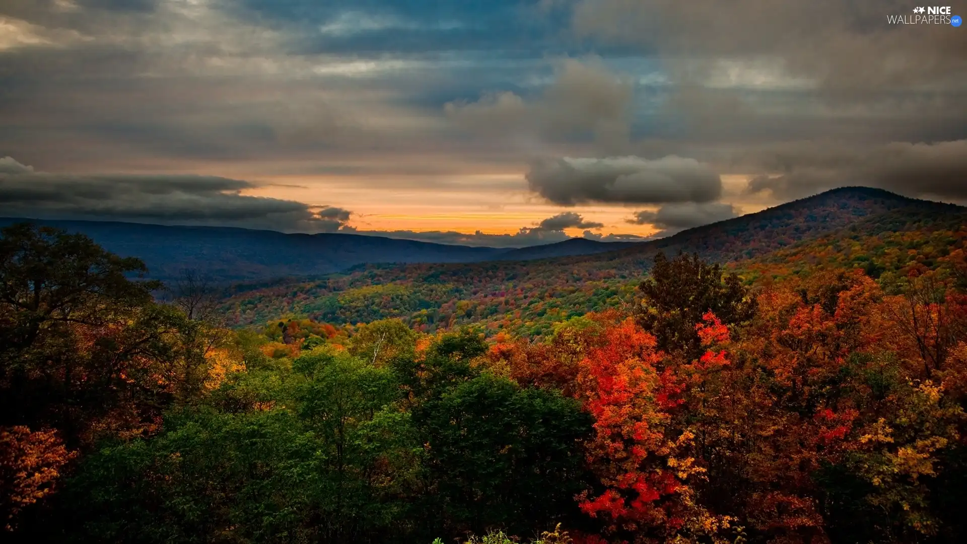
[[658, 240], [600, 242], [571, 238], [520, 249], [445, 245], [346, 233], [286, 234], [236, 227], [15, 218], [0, 218], [0, 226], [30, 221], [83, 232], [109, 251], [142, 258], [151, 277], [161, 280], [174, 278], [182, 269], [191, 268], [223, 283], [259, 283], [336, 272], [356, 273], [360, 266], [376, 264], [380, 264], [378, 268], [386, 269], [383, 266], [386, 263], [445, 265], [482, 261], [553, 261], [557, 265], [570, 266], [591, 261], [593, 267], [617, 271], [641, 269], [659, 251], [684, 251], [714, 260], [736, 260], [786, 248], [806, 238], [895, 210], [945, 216], [964, 209], [880, 189], [846, 187], [734, 219], [689, 228]]

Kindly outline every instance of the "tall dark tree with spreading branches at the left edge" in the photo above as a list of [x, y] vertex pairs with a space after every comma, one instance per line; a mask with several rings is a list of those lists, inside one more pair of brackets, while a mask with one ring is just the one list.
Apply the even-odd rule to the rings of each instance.
[[129, 278], [144, 272], [80, 234], [0, 231], [0, 426], [55, 427], [75, 447], [119, 403], [157, 402], [149, 359], [177, 317], [156, 311], [158, 284]]

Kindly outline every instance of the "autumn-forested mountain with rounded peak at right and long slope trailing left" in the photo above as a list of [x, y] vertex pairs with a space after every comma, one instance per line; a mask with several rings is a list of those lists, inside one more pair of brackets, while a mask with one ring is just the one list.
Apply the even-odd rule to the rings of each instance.
[[[400, 317], [422, 330], [479, 322], [491, 331], [540, 336], [555, 320], [630, 300], [659, 252], [697, 253], [775, 274], [774, 256], [803, 256], [799, 248], [809, 246], [807, 254], [831, 254], [823, 258], [834, 265], [901, 270], [916, 256], [943, 257], [955, 247], [949, 240], [963, 240], [956, 232], [967, 236], [964, 226], [967, 208], [961, 206], [876, 189], [836, 189], [619, 251], [527, 261], [369, 264], [318, 281], [237, 292], [223, 309], [238, 325], [286, 316], [332, 323]], [[869, 255], [854, 251], [844, 259], [823, 249], [837, 240], [843, 252], [856, 246]]]

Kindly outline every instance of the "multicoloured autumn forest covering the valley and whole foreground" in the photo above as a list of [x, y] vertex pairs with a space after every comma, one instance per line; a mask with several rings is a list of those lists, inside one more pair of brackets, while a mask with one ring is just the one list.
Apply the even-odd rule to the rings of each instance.
[[967, 228], [904, 214], [228, 299], [6, 227], [3, 538], [965, 541]]

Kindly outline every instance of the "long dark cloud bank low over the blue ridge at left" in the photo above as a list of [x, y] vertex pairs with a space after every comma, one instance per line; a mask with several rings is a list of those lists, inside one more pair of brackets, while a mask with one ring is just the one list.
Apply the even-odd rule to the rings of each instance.
[[246, 196], [249, 181], [200, 175], [75, 175], [36, 172], [0, 159], [0, 214], [39, 219], [96, 219], [178, 225], [331, 232], [348, 210], [318, 212], [294, 200]]

